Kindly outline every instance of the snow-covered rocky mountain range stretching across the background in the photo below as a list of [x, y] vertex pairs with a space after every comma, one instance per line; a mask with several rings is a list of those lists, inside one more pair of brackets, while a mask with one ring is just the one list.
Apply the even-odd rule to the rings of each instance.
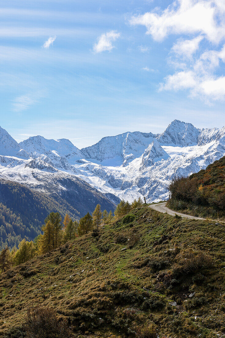
[[172, 177], [198, 172], [225, 155], [225, 127], [198, 129], [178, 120], [162, 134], [126, 132], [80, 150], [69, 140], [41, 136], [18, 144], [4, 129], [0, 137], [0, 177], [67, 201], [76, 195], [81, 209], [94, 205], [96, 196], [107, 210], [119, 198], [166, 199]]

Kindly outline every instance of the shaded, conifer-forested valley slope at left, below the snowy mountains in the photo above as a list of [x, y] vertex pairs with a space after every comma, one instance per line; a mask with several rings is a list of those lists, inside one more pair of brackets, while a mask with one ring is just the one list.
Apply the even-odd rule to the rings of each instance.
[[80, 213], [69, 203], [53, 198], [15, 182], [0, 180], [0, 249], [18, 245], [26, 238], [33, 240], [50, 212], [68, 212], [72, 218]]

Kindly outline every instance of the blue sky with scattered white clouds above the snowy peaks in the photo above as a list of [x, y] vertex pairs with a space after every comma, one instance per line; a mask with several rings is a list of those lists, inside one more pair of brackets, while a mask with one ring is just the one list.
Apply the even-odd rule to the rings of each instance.
[[7, 0], [0, 125], [78, 148], [225, 125], [225, 0]]

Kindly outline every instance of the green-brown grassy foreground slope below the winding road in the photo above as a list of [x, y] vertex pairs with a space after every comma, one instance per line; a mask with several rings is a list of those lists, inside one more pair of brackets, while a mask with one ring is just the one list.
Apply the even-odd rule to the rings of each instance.
[[135, 209], [2, 273], [0, 337], [22, 337], [27, 307], [38, 303], [80, 338], [156, 337], [138, 331], [146, 323], [159, 337], [222, 337], [224, 239], [213, 221]]

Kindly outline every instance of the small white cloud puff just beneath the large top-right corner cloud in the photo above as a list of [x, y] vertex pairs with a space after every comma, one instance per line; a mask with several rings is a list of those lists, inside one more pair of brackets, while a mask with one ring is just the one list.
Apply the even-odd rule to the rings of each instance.
[[194, 54], [199, 48], [199, 43], [202, 41], [202, 39], [203, 37], [200, 36], [191, 40], [178, 40], [178, 42], [173, 45], [171, 50], [178, 56], [190, 58], [192, 57], [192, 54]]

